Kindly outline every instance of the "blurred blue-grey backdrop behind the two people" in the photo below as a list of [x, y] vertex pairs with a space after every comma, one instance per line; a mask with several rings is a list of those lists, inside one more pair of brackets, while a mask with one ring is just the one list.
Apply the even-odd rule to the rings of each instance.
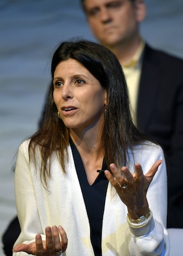
[[[143, 37], [183, 57], [183, 1], [146, 3]], [[95, 41], [80, 0], [0, 0], [0, 236], [16, 214], [11, 168], [17, 147], [37, 128], [52, 53], [73, 36]]]

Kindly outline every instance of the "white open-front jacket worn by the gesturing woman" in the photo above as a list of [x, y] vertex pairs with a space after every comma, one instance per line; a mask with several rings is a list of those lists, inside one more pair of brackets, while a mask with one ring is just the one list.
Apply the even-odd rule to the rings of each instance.
[[[65, 256], [93, 256], [90, 225], [77, 178], [72, 150], [68, 147], [67, 172], [63, 173], [56, 154], [51, 159], [51, 178], [45, 189], [39, 173], [40, 163], [29, 163], [29, 140], [19, 147], [15, 169], [15, 198], [19, 216], [20, 236], [15, 244], [31, 243], [36, 234], [45, 239], [45, 227], [61, 225], [67, 232]], [[37, 158], [40, 159], [37, 152]], [[161, 147], [148, 143], [129, 152], [129, 168], [140, 163], [146, 173], [157, 159], [163, 159], [147, 192], [152, 218], [143, 227], [127, 223], [127, 207], [109, 183], [102, 223], [102, 256], [168, 255], [169, 239], [166, 230], [166, 164]], [[97, 211], [97, 209], [96, 209]], [[13, 256], [27, 253], [13, 253]]]

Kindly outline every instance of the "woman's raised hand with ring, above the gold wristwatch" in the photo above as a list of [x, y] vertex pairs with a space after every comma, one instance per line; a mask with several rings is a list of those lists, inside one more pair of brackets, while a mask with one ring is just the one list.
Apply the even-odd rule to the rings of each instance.
[[111, 172], [105, 170], [107, 179], [116, 189], [122, 202], [127, 205], [130, 218], [137, 219], [139, 216], [148, 213], [147, 189], [161, 163], [162, 160], [155, 161], [146, 175], [143, 174], [139, 163], [135, 164], [136, 171], [134, 174], [127, 167], [123, 166], [122, 173], [125, 178], [113, 163], [109, 166]]

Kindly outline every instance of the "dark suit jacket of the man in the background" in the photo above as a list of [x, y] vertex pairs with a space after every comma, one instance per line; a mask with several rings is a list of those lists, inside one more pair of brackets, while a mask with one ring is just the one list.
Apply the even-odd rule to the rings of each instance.
[[143, 54], [137, 124], [164, 149], [168, 227], [183, 228], [183, 60], [149, 45]]

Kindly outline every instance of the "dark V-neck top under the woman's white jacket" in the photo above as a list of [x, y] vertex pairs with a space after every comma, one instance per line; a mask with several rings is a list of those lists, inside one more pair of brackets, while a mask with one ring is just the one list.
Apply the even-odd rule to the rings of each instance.
[[[83, 193], [84, 203], [90, 223], [90, 239], [92, 242], [93, 251], [95, 256], [102, 256], [102, 220], [108, 180], [106, 179], [104, 173], [99, 173], [95, 182], [90, 186], [84, 170], [83, 161], [72, 140], [70, 140], [70, 147], [72, 149], [77, 177]], [[102, 164], [102, 170], [106, 170], [106, 164], [104, 161]]]

